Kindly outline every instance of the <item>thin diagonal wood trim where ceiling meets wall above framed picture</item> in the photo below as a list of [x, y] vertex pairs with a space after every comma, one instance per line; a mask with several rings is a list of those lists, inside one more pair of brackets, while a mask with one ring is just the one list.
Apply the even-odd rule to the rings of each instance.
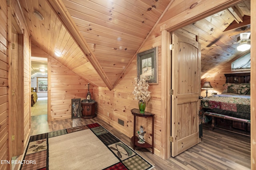
[[148, 33], [148, 35], [146, 36], [146, 38], [144, 39], [144, 41], [141, 43], [140, 47], [138, 48], [138, 50], [136, 51], [136, 53], [134, 54], [134, 56], [130, 59], [129, 63], [127, 64], [127, 66], [124, 68], [123, 72], [120, 74], [120, 76], [118, 77], [118, 79], [116, 80], [114, 87], [118, 84], [118, 82], [122, 79], [122, 77], [124, 76], [124, 72], [126, 72], [128, 66], [132, 63], [133, 59], [137, 56], [137, 53], [140, 51], [140, 49], [143, 47], [144, 43], [148, 40], [148, 37], [151, 35], [151, 33], [154, 31], [154, 29], [156, 28], [156, 25], [158, 25], [159, 21], [162, 19], [162, 17], [164, 16], [164, 14], [166, 13], [166, 11], [169, 9], [169, 7], [171, 6], [171, 4], [174, 2], [174, 0], [171, 0], [170, 3], [168, 4], [168, 6], [166, 6], [164, 12], [162, 13], [162, 15], [158, 18], [158, 20], [156, 21], [156, 23], [154, 24], [154, 26], [152, 27], [152, 29], [150, 30], [150, 32]]

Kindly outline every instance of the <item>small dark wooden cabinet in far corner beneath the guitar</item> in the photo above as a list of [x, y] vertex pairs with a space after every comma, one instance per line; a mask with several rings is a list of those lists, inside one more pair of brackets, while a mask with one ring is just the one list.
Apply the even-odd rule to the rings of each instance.
[[82, 102], [81, 103], [82, 118], [84, 118], [84, 119], [94, 118], [96, 116], [96, 114], [95, 114], [95, 105], [96, 104], [97, 104], [97, 102], [93, 102], [93, 103]]

